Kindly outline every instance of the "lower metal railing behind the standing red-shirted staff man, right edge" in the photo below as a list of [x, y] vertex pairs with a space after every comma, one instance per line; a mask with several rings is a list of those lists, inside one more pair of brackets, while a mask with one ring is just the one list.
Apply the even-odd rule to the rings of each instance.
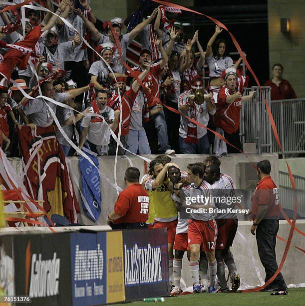
[[305, 216], [305, 177], [293, 174], [296, 183], [296, 191], [292, 188], [289, 174], [280, 173], [280, 203], [283, 208], [294, 209], [295, 199], [298, 199], [298, 213]]

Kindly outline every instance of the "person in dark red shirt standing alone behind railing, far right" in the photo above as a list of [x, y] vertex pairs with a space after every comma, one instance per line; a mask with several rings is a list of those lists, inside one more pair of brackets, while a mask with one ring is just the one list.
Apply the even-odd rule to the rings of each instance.
[[271, 87], [271, 100], [296, 99], [297, 95], [287, 79], [283, 79], [283, 66], [276, 63], [272, 66], [273, 77], [264, 83]]

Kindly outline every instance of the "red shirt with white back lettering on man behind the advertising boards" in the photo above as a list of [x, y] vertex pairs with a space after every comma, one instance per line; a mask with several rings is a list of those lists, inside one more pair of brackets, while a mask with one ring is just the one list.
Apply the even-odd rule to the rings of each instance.
[[114, 204], [114, 212], [121, 217], [114, 223], [145, 223], [148, 219], [149, 196], [141, 184], [124, 189]]

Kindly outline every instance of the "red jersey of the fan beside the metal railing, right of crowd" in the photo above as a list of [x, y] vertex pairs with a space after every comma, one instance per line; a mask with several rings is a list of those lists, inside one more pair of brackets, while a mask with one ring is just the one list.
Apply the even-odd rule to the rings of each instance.
[[215, 126], [221, 127], [229, 134], [235, 133], [239, 128], [242, 108], [242, 99], [238, 98], [232, 103], [227, 103], [227, 96], [234, 94], [228, 87], [222, 87], [217, 96], [217, 111], [215, 114]]

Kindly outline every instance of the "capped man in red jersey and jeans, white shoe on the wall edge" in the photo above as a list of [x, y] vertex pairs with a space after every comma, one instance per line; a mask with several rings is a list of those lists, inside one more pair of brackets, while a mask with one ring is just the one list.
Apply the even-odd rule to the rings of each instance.
[[[171, 149], [170, 145], [168, 144], [167, 125], [164, 111], [163, 109], [160, 109], [160, 106], [157, 105], [157, 101], [160, 99], [159, 74], [167, 64], [168, 56], [161, 44], [161, 40], [156, 40], [155, 43], [159, 46], [162, 59], [159, 62], [152, 64], [150, 72], [143, 79], [144, 85], [150, 89], [149, 91], [145, 91], [145, 97], [147, 99], [148, 108], [153, 111], [150, 119], [154, 121], [155, 128], [157, 129], [158, 139], [160, 142], [159, 151], [165, 154], [174, 154], [175, 151]], [[150, 51], [145, 49], [141, 50], [139, 61], [140, 66], [132, 68], [133, 71], [138, 71], [138, 73], [143, 71], [147, 64], [151, 63]], [[156, 112], [155, 110], [159, 111]]]

